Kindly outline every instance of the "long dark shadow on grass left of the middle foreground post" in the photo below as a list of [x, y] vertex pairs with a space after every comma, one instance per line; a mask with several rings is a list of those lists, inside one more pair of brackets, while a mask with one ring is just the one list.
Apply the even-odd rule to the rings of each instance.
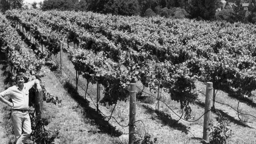
[[66, 81], [64, 83], [64, 88], [67, 89], [67, 92], [70, 94], [70, 96], [83, 108], [83, 115], [86, 115], [86, 118], [94, 120], [95, 124], [99, 126], [99, 129], [102, 133], [108, 133], [114, 137], [119, 137], [122, 135], [122, 132], [111, 126], [108, 121], [105, 120], [104, 116], [99, 114], [95, 109], [89, 107], [89, 101], [80, 96], [75, 87], [70, 82]]

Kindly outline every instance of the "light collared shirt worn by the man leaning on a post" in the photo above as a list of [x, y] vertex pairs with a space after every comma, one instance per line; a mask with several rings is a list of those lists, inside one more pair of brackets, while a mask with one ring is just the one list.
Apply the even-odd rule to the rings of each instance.
[[0, 93], [0, 96], [10, 96], [13, 101], [12, 109], [28, 109], [28, 90], [35, 85], [35, 80], [28, 83], [24, 83], [23, 89], [20, 89], [17, 85], [9, 87]]

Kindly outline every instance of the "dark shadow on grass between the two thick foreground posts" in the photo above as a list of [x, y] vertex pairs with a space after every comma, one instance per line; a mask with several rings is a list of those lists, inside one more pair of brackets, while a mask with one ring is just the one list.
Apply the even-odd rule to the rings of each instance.
[[147, 110], [149, 114], [152, 114], [152, 112], [156, 113], [158, 116], [158, 119], [161, 120], [163, 124], [188, 134], [189, 130], [187, 129], [187, 126], [177, 122], [177, 120], [172, 119], [171, 115], [161, 111], [154, 110], [148, 105], [142, 105], [142, 106]]

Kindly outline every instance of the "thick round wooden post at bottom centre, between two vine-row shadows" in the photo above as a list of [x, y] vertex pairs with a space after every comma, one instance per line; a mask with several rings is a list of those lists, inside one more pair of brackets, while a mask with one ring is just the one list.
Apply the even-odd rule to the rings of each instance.
[[136, 83], [130, 83], [129, 142], [134, 143], [134, 122], [136, 121]]

